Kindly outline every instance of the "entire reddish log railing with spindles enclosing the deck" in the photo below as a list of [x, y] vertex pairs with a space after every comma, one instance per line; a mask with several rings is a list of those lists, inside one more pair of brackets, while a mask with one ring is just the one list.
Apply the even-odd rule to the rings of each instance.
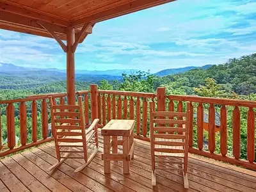
[[[3, 138], [1, 134], [6, 129], [8, 141], [3, 145], [0, 140], [0, 157], [52, 140], [48, 134], [48, 124], [51, 122], [48, 116], [50, 95], [61, 104], [67, 100], [66, 93], [53, 93], [0, 101], [0, 138]], [[146, 141], [150, 140], [148, 102], [152, 101], [157, 111], [181, 112], [185, 110], [184, 102], [189, 101], [193, 109], [193, 121], [189, 125], [189, 152], [256, 170], [256, 101], [165, 95], [165, 88], [157, 88], [156, 94], [97, 90], [97, 85], [91, 85], [90, 91], [76, 92], [76, 95], [83, 96], [86, 125], [90, 125], [94, 118], [100, 119], [99, 127], [104, 127], [111, 119], [134, 119], [134, 137]], [[3, 113], [4, 110], [6, 113]], [[38, 110], [41, 121], [38, 119]], [[216, 132], [217, 113], [220, 114], [220, 132]], [[207, 130], [204, 128], [205, 114], [208, 116]], [[5, 116], [7, 125], [1, 124], [1, 118]], [[15, 116], [19, 116], [19, 122]], [[31, 119], [31, 133], [28, 132], [28, 119]], [[246, 127], [245, 149], [241, 146], [241, 140], [244, 140], [241, 138], [241, 135], [244, 136], [241, 126]], [[29, 134], [31, 141], [28, 140]], [[15, 142], [16, 135], [20, 136], [19, 145]], [[246, 150], [246, 157], [241, 157], [241, 147], [243, 151]]]

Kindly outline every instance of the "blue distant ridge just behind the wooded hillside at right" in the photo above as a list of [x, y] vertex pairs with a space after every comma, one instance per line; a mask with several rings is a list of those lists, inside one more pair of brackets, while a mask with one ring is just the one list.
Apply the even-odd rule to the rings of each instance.
[[189, 67], [182, 67], [182, 68], [168, 68], [161, 70], [154, 75], [163, 77], [163, 76], [168, 76], [168, 75], [174, 75], [174, 74], [179, 74], [183, 72], [187, 72], [189, 70], [195, 69], [195, 68], [202, 68], [202, 69], [207, 69], [210, 68], [212, 65], [204, 65], [202, 67], [195, 67], [195, 66], [189, 66]]

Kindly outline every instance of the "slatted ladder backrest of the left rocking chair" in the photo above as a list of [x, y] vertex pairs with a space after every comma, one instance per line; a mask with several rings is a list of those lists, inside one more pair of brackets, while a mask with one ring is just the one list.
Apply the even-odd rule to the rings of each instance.
[[49, 97], [49, 100], [51, 105], [52, 134], [54, 136], [58, 161], [61, 159], [60, 147], [67, 146], [83, 147], [84, 160], [86, 160], [86, 131], [82, 97], [78, 97], [78, 105], [57, 105], [52, 97]]

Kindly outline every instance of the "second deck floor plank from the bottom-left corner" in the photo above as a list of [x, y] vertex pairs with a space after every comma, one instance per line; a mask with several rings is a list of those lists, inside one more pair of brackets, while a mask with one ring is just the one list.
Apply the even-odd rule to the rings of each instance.
[[15, 175], [13, 175], [6, 166], [0, 161], [0, 179], [10, 191], [24, 191], [28, 192], [29, 189], [20, 182]]

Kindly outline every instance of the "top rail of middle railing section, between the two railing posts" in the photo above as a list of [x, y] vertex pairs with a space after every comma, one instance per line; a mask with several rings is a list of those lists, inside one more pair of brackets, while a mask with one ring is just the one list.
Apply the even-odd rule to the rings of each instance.
[[124, 91], [113, 91], [113, 90], [98, 90], [101, 94], [111, 94], [111, 95], [122, 95], [122, 96], [132, 96], [132, 97], [156, 97], [155, 93], [143, 93], [143, 92], [124, 92]]

